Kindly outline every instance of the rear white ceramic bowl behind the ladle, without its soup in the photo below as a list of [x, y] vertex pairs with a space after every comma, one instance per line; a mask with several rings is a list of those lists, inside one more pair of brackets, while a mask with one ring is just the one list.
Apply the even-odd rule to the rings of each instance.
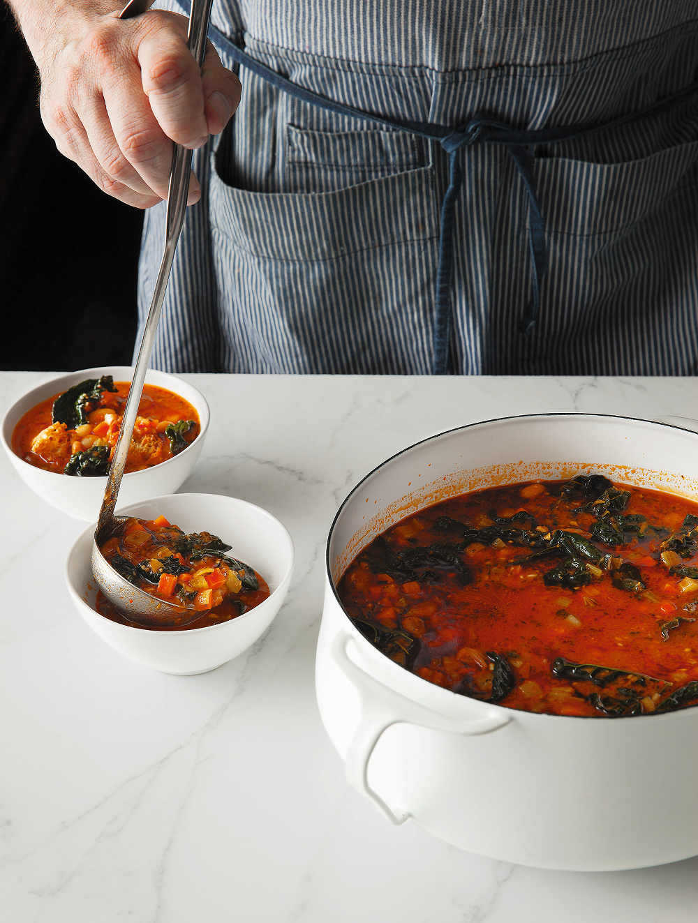
[[[130, 381], [132, 374], [133, 368], [131, 366], [97, 366], [95, 368], [83, 368], [78, 372], [62, 375], [60, 378], [49, 378], [42, 385], [33, 388], [19, 398], [5, 414], [0, 438], [2, 438], [7, 457], [12, 462], [19, 477], [39, 497], [42, 497], [51, 506], [62, 509], [75, 519], [91, 522], [97, 518], [102, 506], [106, 475], [103, 477], [70, 477], [67, 474], [58, 474], [53, 471], [43, 471], [42, 468], [36, 468], [29, 462], [25, 462], [24, 459], [20, 459], [12, 451], [12, 432], [21, 417], [30, 411], [32, 407], [54, 394], [72, 388], [73, 385], [77, 385], [79, 381], [83, 381], [85, 378], [111, 375], [114, 377], [114, 381]], [[174, 391], [175, 394], [192, 404], [199, 414], [201, 428], [199, 436], [187, 446], [187, 449], [175, 455], [174, 458], [156, 464], [152, 468], [146, 468], [144, 471], [125, 474], [119, 490], [118, 509], [128, 503], [138, 503], [139, 500], [144, 500], [148, 497], [174, 493], [179, 485], [183, 484], [189, 474], [192, 473], [209, 428], [211, 414], [209, 413], [206, 398], [196, 388], [192, 388], [186, 381], [183, 381], [182, 378], [175, 378], [174, 375], [168, 375], [166, 372], [149, 369], [146, 373], [146, 384], [157, 385], [160, 388]]]

